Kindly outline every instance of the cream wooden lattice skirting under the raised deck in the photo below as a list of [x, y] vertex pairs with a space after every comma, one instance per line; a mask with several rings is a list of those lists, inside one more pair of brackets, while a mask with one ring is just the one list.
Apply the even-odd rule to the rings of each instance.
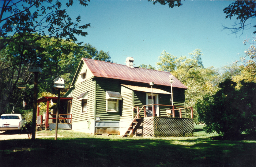
[[193, 136], [194, 120], [190, 118], [146, 117], [136, 136], [187, 137]]

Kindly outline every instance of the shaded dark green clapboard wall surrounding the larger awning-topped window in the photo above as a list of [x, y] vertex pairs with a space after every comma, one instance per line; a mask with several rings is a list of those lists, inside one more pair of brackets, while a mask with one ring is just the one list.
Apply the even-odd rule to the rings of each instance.
[[96, 80], [96, 117], [102, 121], [119, 121], [122, 114], [122, 101], [118, 100], [118, 112], [106, 112], [106, 91], [121, 92], [121, 86], [117, 80], [101, 79]]

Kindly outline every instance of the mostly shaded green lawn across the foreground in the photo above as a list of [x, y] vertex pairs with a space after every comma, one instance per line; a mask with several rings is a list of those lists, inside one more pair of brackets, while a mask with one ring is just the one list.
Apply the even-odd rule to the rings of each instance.
[[[255, 167], [256, 140], [217, 140], [195, 126], [188, 138], [120, 138], [59, 130], [62, 136], [1, 140], [1, 167]], [[54, 136], [55, 131], [36, 135]]]

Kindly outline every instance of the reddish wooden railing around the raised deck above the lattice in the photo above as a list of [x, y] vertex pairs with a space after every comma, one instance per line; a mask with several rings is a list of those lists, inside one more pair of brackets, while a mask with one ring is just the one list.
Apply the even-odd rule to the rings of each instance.
[[[142, 106], [142, 108], [139, 110], [139, 106], [137, 106], [137, 107], [133, 107], [133, 111], [134, 111], [134, 109], [135, 108], [137, 108], [137, 115], [135, 116], [135, 118], [136, 117], [138, 117], [139, 118], [139, 113], [142, 111], [142, 109], [144, 109], [144, 117], [147, 117], [147, 115], [146, 115], [146, 107], [147, 106], [152, 106], [152, 104], [148, 104], [148, 105], [144, 105], [144, 106]], [[185, 107], [185, 106], [171, 106], [171, 105], [164, 105], [164, 104], [153, 104], [153, 106], [169, 106], [170, 108], [172, 108], [172, 109], [170, 109], [170, 111], [172, 112], [172, 117], [173, 118], [175, 118], [175, 110], [178, 110], [179, 111], [179, 113], [180, 113], [180, 118], [182, 118], [182, 112], [181, 112], [181, 110], [185, 110], [185, 109], [190, 109], [190, 112], [191, 112], [191, 118], [193, 118], [193, 107]], [[153, 113], [152, 113], [152, 116], [154, 116], [155, 115], [155, 107], [153, 107], [153, 111], [152, 111]]]

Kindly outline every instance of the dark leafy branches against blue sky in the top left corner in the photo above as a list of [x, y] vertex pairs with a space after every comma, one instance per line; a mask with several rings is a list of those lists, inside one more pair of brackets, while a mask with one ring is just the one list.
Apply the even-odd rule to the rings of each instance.
[[[86, 7], [87, 1], [79, 0]], [[86, 36], [89, 24], [79, 25], [81, 16], [75, 22], [69, 17], [60, 0], [3, 0], [0, 15], [0, 51], [9, 43], [21, 38], [31, 39], [34, 33], [38, 38], [66, 39], [76, 41], [75, 35]], [[66, 1], [66, 7], [71, 7], [73, 0]]]

